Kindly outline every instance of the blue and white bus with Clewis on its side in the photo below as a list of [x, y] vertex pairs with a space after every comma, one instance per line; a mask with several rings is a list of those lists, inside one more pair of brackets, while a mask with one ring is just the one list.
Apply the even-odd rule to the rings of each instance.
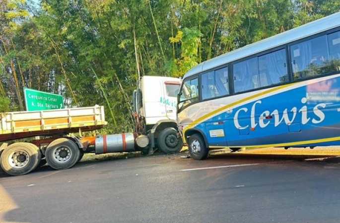
[[340, 145], [340, 12], [192, 68], [177, 121], [197, 160], [225, 147]]

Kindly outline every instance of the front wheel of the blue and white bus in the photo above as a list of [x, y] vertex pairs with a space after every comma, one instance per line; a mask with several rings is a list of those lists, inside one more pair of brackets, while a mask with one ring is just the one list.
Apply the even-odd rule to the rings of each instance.
[[199, 134], [194, 134], [189, 138], [189, 153], [195, 160], [204, 160], [208, 156], [209, 149]]

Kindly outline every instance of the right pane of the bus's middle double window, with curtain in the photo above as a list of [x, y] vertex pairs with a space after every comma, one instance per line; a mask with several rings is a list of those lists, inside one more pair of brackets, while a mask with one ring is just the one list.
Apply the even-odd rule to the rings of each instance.
[[260, 87], [288, 82], [285, 50], [259, 56]]

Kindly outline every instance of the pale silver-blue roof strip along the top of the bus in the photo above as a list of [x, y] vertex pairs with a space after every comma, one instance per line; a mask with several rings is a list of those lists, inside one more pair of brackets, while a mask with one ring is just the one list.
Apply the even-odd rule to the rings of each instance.
[[206, 60], [190, 69], [183, 78], [338, 26], [340, 26], [340, 12]]

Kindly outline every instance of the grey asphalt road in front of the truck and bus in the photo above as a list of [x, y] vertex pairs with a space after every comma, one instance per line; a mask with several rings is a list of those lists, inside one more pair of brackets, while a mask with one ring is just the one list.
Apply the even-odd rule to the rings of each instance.
[[340, 222], [339, 158], [259, 151], [206, 161], [181, 158], [186, 153], [134, 157], [0, 175], [0, 222]]

